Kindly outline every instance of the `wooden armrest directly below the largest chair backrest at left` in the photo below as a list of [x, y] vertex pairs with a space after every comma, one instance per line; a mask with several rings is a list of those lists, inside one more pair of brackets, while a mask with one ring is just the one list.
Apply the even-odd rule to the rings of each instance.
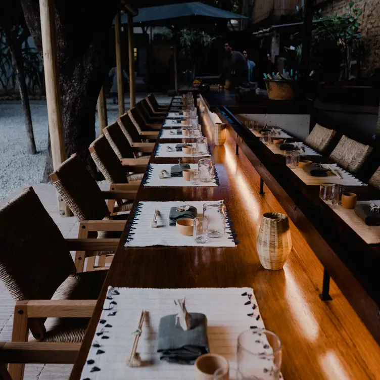
[[98, 300], [29, 300], [18, 301], [15, 310], [26, 308], [28, 318], [88, 318]]

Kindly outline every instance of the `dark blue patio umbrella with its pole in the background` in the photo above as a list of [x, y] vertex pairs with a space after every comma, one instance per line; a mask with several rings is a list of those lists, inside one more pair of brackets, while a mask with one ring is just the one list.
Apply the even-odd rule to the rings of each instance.
[[[186, 24], [196, 24], [197, 26], [210, 21], [217, 20], [241, 20], [248, 19], [246, 16], [224, 11], [220, 8], [194, 2], [163, 5], [159, 7], [139, 8], [138, 15], [133, 18], [134, 26], [173, 26], [179, 29]], [[128, 23], [127, 15], [123, 15], [122, 24]], [[177, 54], [174, 45], [174, 83], [175, 91], [178, 90], [177, 84]]]

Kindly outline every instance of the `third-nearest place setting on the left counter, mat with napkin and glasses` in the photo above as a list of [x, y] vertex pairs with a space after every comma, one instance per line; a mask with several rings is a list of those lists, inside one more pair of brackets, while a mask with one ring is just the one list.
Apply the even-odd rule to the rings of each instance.
[[150, 164], [143, 180], [145, 187], [208, 187], [218, 186], [214, 161], [203, 158], [197, 164]]

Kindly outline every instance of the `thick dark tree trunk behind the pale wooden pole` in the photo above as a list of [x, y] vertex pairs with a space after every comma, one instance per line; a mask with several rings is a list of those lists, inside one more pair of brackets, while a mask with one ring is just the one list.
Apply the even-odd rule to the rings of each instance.
[[[39, 2], [21, 0], [21, 4], [30, 34], [42, 53]], [[70, 157], [77, 153], [94, 177], [97, 176], [97, 170], [88, 147], [95, 139], [95, 110], [106, 71], [105, 57], [112, 41], [112, 21], [118, 7], [117, 0], [56, 0], [66, 155]], [[88, 9], [91, 9], [91, 16], [88, 15]]]

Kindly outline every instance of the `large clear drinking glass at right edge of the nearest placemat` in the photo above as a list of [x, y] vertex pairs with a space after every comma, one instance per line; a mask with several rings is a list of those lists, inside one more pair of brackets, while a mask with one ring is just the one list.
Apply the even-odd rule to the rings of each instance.
[[237, 338], [237, 380], [278, 380], [281, 360], [281, 340], [271, 331], [250, 329]]

